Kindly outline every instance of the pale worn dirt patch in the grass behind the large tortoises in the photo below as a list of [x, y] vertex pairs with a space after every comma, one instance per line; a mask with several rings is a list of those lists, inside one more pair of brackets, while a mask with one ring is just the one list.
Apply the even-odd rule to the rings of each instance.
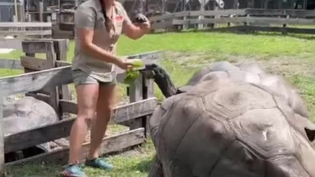
[[165, 52], [164, 59], [176, 62], [186, 67], [202, 67], [217, 61], [229, 61], [232, 63], [252, 61], [260, 64], [262, 68], [273, 74], [287, 77], [293, 74], [311, 76], [314, 73], [315, 63], [309, 58], [297, 58], [290, 56], [266, 57], [266, 56], [231, 56], [214, 55], [211, 52]]

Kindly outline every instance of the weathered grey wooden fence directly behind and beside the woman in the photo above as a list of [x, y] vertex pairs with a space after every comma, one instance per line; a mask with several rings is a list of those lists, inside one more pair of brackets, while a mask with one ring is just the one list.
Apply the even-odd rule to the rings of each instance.
[[[26, 56], [21, 60], [0, 59], [0, 67], [24, 69], [26, 73], [0, 79], [0, 132], [3, 132], [2, 100], [4, 96], [25, 93], [49, 103], [60, 116], [60, 121], [4, 136], [0, 134], [0, 172], [4, 177], [5, 166], [30, 161], [64, 163], [67, 160], [68, 148], [35, 155], [18, 161], [5, 163], [4, 153], [33, 147], [56, 139], [68, 137], [73, 118], [62, 119], [63, 114], [77, 114], [77, 105], [71, 101], [68, 85], [71, 84], [71, 65], [65, 61], [68, 41], [64, 39], [32, 39], [22, 42]], [[45, 53], [46, 59], [35, 58], [36, 53]], [[158, 59], [159, 52], [133, 56], [129, 59]], [[126, 73], [119, 73], [118, 82], [122, 82]], [[128, 87], [129, 103], [114, 110], [112, 120], [126, 125], [129, 131], [106, 137], [102, 141], [101, 153], [109, 153], [139, 145], [145, 141], [150, 115], [158, 101], [153, 93], [153, 81], [147, 72], [141, 70], [141, 76]], [[83, 145], [84, 152], [89, 150], [90, 143]], [[84, 160], [84, 159], [82, 159]], [[0, 175], [0, 176], [1, 176]]]

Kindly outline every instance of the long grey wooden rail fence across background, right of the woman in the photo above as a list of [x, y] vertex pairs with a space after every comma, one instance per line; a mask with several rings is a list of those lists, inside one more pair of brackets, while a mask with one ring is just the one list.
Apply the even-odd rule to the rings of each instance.
[[[315, 33], [315, 10], [247, 8], [182, 11], [153, 16], [150, 21], [154, 31], [158, 29], [166, 31], [189, 29], [189, 26], [213, 29], [214, 24], [227, 24], [224, 29]], [[293, 28], [288, 27], [288, 25], [309, 26], [309, 28]]]

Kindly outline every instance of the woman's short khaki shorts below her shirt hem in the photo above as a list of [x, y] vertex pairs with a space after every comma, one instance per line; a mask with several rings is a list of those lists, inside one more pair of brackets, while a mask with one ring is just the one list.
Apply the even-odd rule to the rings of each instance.
[[94, 77], [88, 75], [80, 69], [72, 70], [72, 78], [75, 86], [83, 84], [97, 84], [97, 85], [116, 85], [116, 78], [112, 82], [101, 82]]

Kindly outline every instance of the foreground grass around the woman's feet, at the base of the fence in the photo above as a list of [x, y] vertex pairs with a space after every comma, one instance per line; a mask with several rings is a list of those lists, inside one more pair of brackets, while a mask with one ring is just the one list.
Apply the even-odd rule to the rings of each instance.
[[[89, 177], [147, 177], [154, 156], [153, 144], [149, 140], [135, 150], [109, 156], [106, 160], [114, 164], [111, 172], [84, 167]], [[9, 167], [8, 177], [58, 177], [64, 166], [56, 164], [24, 164]]]

